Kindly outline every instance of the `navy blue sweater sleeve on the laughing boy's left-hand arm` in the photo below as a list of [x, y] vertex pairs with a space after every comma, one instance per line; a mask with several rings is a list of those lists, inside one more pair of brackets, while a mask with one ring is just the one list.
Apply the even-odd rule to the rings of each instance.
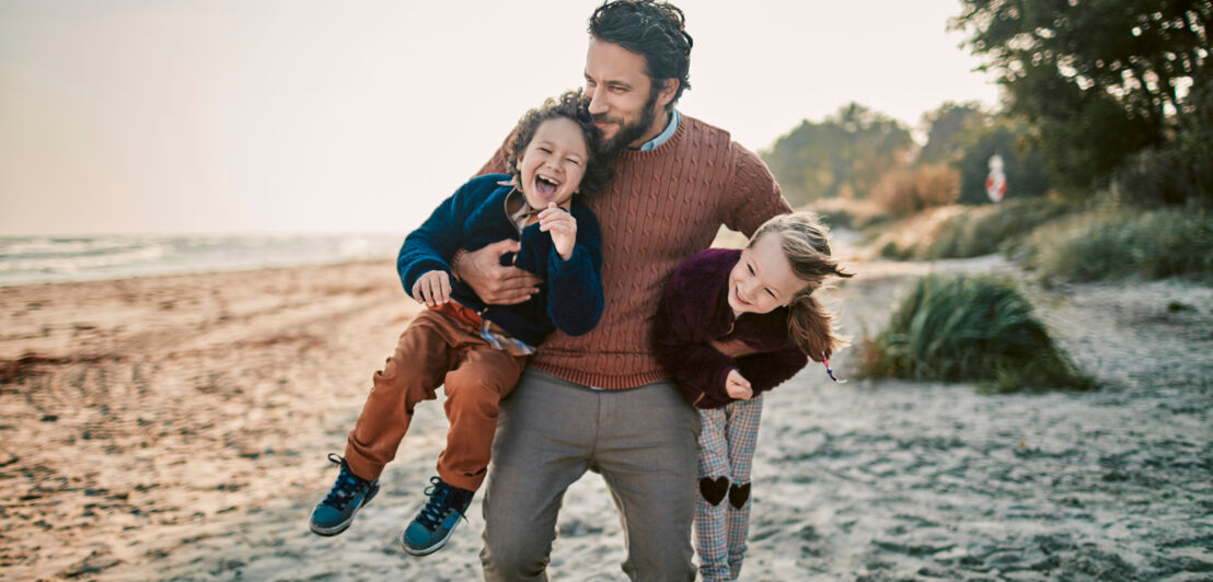
[[499, 179], [501, 176], [484, 176], [467, 182], [409, 233], [395, 259], [405, 293], [411, 296], [417, 278], [431, 270], [450, 273], [449, 261], [465, 239], [463, 219], [492, 193]]

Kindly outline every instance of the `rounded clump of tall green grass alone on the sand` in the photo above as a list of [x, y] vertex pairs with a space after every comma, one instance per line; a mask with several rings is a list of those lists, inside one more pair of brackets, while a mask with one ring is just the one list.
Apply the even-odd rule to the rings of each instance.
[[980, 382], [997, 392], [1092, 388], [1009, 279], [926, 276], [861, 346], [870, 377]]

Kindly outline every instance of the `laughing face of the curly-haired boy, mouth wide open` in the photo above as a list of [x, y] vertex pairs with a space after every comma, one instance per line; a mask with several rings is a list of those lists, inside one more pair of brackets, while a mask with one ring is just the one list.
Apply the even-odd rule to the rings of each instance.
[[568, 206], [565, 202], [581, 187], [587, 161], [590, 153], [581, 127], [568, 118], [548, 119], [523, 152], [518, 189], [533, 209], [546, 209], [548, 202]]

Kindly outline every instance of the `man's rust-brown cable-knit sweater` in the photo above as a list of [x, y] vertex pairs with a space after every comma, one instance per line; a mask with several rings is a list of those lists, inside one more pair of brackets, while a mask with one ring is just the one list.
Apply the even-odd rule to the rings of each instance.
[[[480, 173], [506, 171], [506, 142]], [[653, 319], [679, 263], [711, 245], [721, 224], [748, 236], [791, 210], [757, 155], [687, 115], [666, 143], [621, 152], [614, 169], [606, 189], [587, 199], [602, 226], [606, 310], [590, 333], [548, 336], [530, 363], [608, 389], [667, 376], [653, 354]]]

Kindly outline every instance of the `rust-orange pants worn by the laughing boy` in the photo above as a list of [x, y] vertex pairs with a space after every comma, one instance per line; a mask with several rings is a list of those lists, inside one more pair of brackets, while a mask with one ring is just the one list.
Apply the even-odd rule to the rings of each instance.
[[[448, 313], [449, 312], [449, 313]], [[346, 443], [346, 462], [363, 479], [378, 479], [409, 432], [412, 410], [445, 386], [446, 449], [438, 477], [468, 491], [489, 467], [497, 406], [518, 383], [526, 356], [494, 349], [479, 327], [451, 310], [423, 310], [400, 333]]]

